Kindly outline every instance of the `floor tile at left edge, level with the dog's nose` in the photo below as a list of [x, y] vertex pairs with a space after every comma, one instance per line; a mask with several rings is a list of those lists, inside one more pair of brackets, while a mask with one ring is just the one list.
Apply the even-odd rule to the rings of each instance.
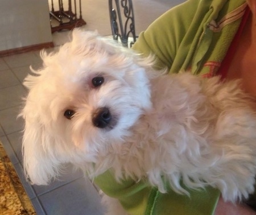
[[20, 117], [17, 118], [19, 112], [19, 106], [0, 111], [0, 124], [6, 134], [23, 130], [24, 121]]

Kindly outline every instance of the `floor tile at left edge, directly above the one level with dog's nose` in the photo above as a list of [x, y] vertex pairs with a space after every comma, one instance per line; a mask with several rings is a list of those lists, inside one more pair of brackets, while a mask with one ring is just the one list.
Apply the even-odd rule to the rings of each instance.
[[27, 91], [21, 84], [0, 89], [0, 110], [21, 105]]

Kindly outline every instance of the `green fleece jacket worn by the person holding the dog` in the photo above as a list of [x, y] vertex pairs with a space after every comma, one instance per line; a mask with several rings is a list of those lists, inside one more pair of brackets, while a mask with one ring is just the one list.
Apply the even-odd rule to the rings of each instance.
[[[245, 0], [189, 0], [160, 16], [139, 35], [133, 49], [156, 56], [156, 68], [170, 73], [191, 71], [213, 76], [236, 34], [246, 9]], [[171, 189], [160, 193], [146, 181], [118, 183], [111, 171], [94, 183], [118, 199], [129, 214], [214, 214], [220, 192], [212, 187], [179, 195]]]

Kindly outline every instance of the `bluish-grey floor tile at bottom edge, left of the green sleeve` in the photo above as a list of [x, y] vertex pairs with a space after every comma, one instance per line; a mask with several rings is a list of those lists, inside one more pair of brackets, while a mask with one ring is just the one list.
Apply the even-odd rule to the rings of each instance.
[[39, 196], [48, 215], [103, 215], [101, 198], [84, 177]]

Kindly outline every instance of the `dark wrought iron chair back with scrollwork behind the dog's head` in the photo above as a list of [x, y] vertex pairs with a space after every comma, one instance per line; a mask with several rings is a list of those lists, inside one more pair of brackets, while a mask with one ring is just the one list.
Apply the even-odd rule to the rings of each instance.
[[137, 39], [132, 0], [109, 0], [109, 15], [113, 39], [131, 47]]

